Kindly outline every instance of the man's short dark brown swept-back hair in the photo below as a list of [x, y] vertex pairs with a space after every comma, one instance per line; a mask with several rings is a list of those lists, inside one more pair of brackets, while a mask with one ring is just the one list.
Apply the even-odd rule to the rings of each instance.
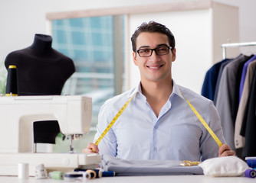
[[166, 34], [169, 39], [169, 46], [172, 47], [172, 50], [175, 48], [175, 38], [171, 30], [169, 30], [169, 28], [167, 28], [165, 25], [159, 24], [156, 21], [149, 21], [149, 23], [143, 22], [143, 24], [137, 27], [133, 33], [133, 36], [131, 37], [134, 52], [136, 51], [136, 39], [139, 34], [143, 32]]

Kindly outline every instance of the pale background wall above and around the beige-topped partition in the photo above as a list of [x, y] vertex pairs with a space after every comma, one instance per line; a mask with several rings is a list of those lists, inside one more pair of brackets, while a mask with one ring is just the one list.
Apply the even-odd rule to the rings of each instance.
[[[183, 0], [188, 2], [190, 0]], [[240, 42], [256, 40], [256, 1], [254, 0], [215, 0], [239, 7]], [[149, 4], [162, 2], [181, 2], [179, 0], [147, 0]], [[34, 34], [46, 34], [45, 15], [48, 12], [72, 11], [94, 8], [143, 5], [144, 0], [8, 0], [0, 2], [0, 62], [13, 50], [31, 45]], [[232, 41], [232, 40], [231, 40]], [[221, 48], [220, 48], [221, 49]], [[254, 48], [256, 50], [256, 48]], [[246, 50], [246, 53], [250, 51]], [[254, 52], [256, 53], [256, 52]], [[182, 54], [182, 53], [180, 53]]]

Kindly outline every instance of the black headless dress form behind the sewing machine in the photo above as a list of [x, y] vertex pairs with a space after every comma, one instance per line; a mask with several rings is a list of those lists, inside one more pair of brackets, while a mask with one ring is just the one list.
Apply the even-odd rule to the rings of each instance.
[[51, 47], [51, 36], [35, 34], [30, 47], [8, 54], [5, 67], [18, 69], [18, 95], [61, 95], [74, 73], [73, 60]]

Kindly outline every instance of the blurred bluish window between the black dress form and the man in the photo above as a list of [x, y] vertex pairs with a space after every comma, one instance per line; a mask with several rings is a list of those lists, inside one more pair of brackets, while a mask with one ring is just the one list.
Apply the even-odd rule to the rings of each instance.
[[[117, 88], [122, 88], [115, 80], [115, 67], [120, 65], [123, 68], [123, 61], [115, 60], [115, 54], [118, 53], [115, 47], [117, 37], [113, 36], [117, 31], [115, 24], [113, 16], [51, 21], [54, 49], [73, 59], [76, 68], [76, 72], [64, 85], [63, 95], [86, 95], [93, 98], [90, 133], [85, 136], [85, 140], [74, 141], [77, 152], [93, 141], [100, 106], [117, 94]], [[118, 39], [123, 40], [122, 37]], [[122, 78], [123, 69], [120, 74], [119, 78]], [[64, 144], [69, 145], [69, 141], [57, 141], [61, 146], [54, 146], [55, 152], [68, 149]]]

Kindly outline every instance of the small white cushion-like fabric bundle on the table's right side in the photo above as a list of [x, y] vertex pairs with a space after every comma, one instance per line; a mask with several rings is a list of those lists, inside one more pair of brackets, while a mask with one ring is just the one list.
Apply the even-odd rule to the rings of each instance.
[[249, 169], [246, 162], [236, 156], [206, 159], [200, 163], [205, 175], [213, 177], [241, 176]]

